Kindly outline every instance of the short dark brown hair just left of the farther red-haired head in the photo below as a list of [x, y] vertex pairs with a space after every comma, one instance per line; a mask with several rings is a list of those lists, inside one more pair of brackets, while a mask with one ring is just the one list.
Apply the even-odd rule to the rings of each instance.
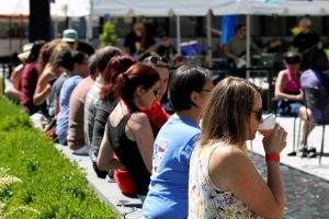
[[97, 51], [97, 66], [100, 73], [103, 73], [112, 57], [121, 55], [121, 49], [115, 46], [106, 46]]

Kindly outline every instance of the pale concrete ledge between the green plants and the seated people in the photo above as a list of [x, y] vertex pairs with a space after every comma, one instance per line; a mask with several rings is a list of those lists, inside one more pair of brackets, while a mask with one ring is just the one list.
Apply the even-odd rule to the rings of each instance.
[[61, 145], [55, 145], [69, 160], [76, 163], [87, 174], [89, 187], [91, 187], [101, 201], [105, 203], [113, 211], [124, 218], [141, 218], [141, 201], [137, 197], [128, 197], [121, 193], [114, 181], [99, 178], [93, 171], [88, 155], [76, 155], [72, 151]]

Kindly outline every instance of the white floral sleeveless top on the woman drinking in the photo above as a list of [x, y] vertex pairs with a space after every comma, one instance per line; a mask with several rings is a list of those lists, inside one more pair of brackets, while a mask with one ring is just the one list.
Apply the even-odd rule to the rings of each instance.
[[231, 192], [213, 184], [208, 162], [217, 147], [194, 148], [190, 163], [189, 218], [260, 218]]

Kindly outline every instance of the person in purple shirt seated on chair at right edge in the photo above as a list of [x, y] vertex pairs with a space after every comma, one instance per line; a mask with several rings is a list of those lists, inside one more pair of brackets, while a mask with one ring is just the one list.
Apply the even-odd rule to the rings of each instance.
[[[325, 102], [325, 123], [329, 123], [329, 76], [324, 71], [329, 69], [329, 61], [326, 53], [322, 49], [317, 49], [310, 54], [310, 69], [303, 72], [300, 77], [302, 88], [318, 88], [324, 96]], [[321, 120], [321, 113], [315, 108], [306, 111], [305, 106], [302, 106], [299, 117], [304, 120], [310, 118], [316, 123], [324, 123]], [[314, 125], [307, 124], [303, 129], [303, 138], [300, 145], [307, 149], [307, 137], [313, 130]]]

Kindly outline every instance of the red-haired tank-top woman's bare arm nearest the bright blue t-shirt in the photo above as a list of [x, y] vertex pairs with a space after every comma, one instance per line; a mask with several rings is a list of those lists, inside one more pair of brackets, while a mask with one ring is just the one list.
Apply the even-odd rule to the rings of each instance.
[[132, 114], [126, 126], [126, 132], [127, 135], [131, 132], [137, 142], [144, 163], [148, 172], [151, 173], [155, 137], [147, 115], [145, 113]]

